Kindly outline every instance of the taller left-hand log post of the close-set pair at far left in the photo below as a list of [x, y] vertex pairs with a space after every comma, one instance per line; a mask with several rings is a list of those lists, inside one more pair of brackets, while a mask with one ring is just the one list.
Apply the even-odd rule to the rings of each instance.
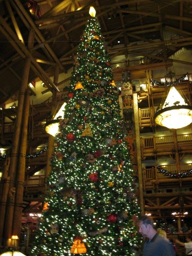
[[17, 172], [17, 161], [19, 156], [19, 143], [20, 143], [20, 133], [22, 128], [22, 119], [23, 119], [23, 103], [24, 96], [26, 92], [26, 88], [28, 85], [28, 77], [29, 77], [29, 69], [30, 69], [31, 61], [29, 58], [25, 59], [25, 65], [23, 70], [23, 77], [21, 80], [21, 87], [18, 99], [18, 107], [17, 107], [17, 119], [15, 122], [15, 131], [13, 134], [12, 140], [12, 151], [11, 151], [11, 160], [9, 166], [9, 193], [6, 204], [6, 215], [4, 219], [4, 232], [3, 232], [3, 245], [9, 246], [10, 240], [12, 236], [12, 223], [13, 223], [13, 215], [14, 215], [14, 205], [15, 205], [15, 180], [16, 180], [16, 172]]

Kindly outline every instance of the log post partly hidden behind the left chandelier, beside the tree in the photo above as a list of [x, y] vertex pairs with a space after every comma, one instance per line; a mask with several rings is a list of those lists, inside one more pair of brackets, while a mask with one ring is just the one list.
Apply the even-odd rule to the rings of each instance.
[[[58, 84], [58, 76], [59, 76], [59, 66], [57, 65], [55, 67], [55, 75], [54, 75], [54, 84]], [[52, 94], [52, 106], [51, 106], [51, 115], [55, 113], [55, 99], [56, 99], [56, 92], [53, 92]], [[50, 159], [53, 155], [54, 151], [54, 142], [55, 138], [49, 134], [48, 138], [48, 148], [47, 148], [47, 166], [46, 166], [46, 173], [45, 173], [45, 179], [49, 176], [49, 173], [51, 172], [51, 165], [50, 165]]]

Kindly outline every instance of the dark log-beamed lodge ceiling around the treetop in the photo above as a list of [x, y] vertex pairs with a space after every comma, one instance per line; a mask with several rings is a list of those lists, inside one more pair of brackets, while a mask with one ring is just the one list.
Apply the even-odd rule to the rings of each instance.
[[[163, 62], [167, 49], [192, 47], [192, 0], [0, 0], [0, 104], [15, 100], [26, 58], [31, 60], [29, 82], [38, 77], [57, 90], [50, 76], [56, 65], [60, 72], [73, 65], [70, 56], [91, 5], [111, 58], [134, 55]], [[163, 31], [179, 37], [168, 40]], [[155, 49], [163, 55], [153, 55]]]

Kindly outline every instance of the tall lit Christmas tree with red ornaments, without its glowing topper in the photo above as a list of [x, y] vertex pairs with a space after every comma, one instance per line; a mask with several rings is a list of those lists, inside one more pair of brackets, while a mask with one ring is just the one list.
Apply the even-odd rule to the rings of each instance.
[[55, 137], [48, 207], [32, 255], [133, 256], [140, 211], [123, 140], [119, 90], [98, 20], [81, 36], [64, 119]]

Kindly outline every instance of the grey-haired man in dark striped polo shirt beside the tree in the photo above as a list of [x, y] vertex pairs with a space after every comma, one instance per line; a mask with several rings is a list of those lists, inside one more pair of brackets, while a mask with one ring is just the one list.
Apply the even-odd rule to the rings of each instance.
[[151, 219], [147, 216], [140, 218], [139, 232], [143, 237], [148, 238], [143, 247], [143, 256], [175, 256], [171, 241], [157, 233]]

